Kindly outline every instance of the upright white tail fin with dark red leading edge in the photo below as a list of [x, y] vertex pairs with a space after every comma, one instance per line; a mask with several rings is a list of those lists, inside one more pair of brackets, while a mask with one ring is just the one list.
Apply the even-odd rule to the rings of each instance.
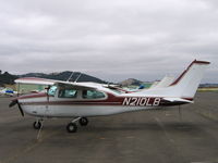
[[[206, 61], [193, 61], [190, 66], [170, 85], [179, 97], [194, 98], [206, 67]], [[178, 93], [177, 92], [177, 93]]]

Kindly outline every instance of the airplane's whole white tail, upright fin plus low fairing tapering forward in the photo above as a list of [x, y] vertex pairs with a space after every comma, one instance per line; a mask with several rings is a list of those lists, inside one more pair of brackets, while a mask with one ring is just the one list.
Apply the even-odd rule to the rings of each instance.
[[[162, 96], [169, 98], [183, 98], [192, 100], [203, 78], [206, 61], [193, 61], [190, 66], [168, 87], [153, 88], [141, 91], [144, 95]], [[140, 92], [138, 92], [140, 93]]]

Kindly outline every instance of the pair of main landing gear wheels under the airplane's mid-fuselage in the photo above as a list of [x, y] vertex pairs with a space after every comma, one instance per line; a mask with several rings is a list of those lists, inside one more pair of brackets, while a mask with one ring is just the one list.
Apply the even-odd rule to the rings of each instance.
[[76, 133], [77, 131], [77, 125], [76, 122], [78, 121], [81, 126], [87, 126], [88, 120], [86, 117], [76, 117], [71, 123], [66, 125], [66, 130], [69, 133]]

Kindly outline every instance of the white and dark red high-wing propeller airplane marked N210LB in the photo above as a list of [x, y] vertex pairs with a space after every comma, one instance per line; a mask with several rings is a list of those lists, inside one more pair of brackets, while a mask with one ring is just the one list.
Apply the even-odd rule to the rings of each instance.
[[45, 118], [70, 117], [72, 121], [66, 125], [66, 130], [76, 133], [77, 123], [86, 126], [87, 117], [194, 103], [194, 96], [209, 64], [194, 60], [169, 86], [135, 92], [96, 83], [20, 78], [15, 80], [17, 84], [48, 85], [47, 91], [19, 96], [10, 106], [17, 104], [22, 116], [24, 113], [35, 116], [35, 129], [43, 127]]

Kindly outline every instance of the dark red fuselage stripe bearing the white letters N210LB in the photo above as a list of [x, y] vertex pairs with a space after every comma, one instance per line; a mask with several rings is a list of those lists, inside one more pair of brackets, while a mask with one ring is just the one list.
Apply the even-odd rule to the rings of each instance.
[[[46, 99], [47, 93], [33, 93], [28, 96], [22, 96], [17, 99], [24, 99], [21, 104], [24, 105], [125, 105], [125, 106], [158, 106], [162, 105], [162, 97], [117, 97], [112, 93], [107, 93], [107, 99], [92, 99], [92, 100], [76, 100], [76, 99], [57, 99], [57, 101], [49, 101]], [[43, 98], [41, 101], [28, 101], [25, 102], [25, 99], [32, 98]], [[185, 100], [192, 101], [193, 98], [183, 98]], [[64, 101], [63, 101], [64, 100]], [[158, 104], [157, 104], [158, 103]], [[169, 102], [168, 102], [169, 103]]]

